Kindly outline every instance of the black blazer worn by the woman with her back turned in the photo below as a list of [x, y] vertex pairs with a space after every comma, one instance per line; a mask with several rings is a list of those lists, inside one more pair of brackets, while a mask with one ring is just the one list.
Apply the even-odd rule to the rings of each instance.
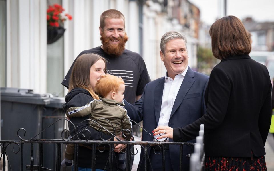
[[206, 156], [265, 155], [271, 87], [267, 68], [247, 54], [221, 60], [209, 78], [206, 114], [186, 127], [175, 128], [174, 141], [193, 139], [204, 124]]

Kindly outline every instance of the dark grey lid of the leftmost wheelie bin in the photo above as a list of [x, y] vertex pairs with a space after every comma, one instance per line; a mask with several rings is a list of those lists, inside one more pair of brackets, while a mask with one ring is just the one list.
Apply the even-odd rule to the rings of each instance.
[[47, 105], [50, 103], [48, 94], [33, 93], [33, 90], [31, 89], [1, 87], [0, 90], [1, 101], [30, 103], [38, 105]]

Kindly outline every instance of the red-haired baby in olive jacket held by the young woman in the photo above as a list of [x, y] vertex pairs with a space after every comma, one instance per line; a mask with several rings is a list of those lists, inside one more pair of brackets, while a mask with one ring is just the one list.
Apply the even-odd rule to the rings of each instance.
[[[94, 88], [100, 100], [93, 100], [82, 107], [71, 107], [67, 110], [66, 115], [68, 118], [89, 115], [89, 119], [93, 121], [98, 119], [96, 121], [98, 124], [115, 135], [120, 135], [122, 129], [128, 129], [128, 131], [123, 132], [124, 138], [128, 141], [132, 137], [132, 123], [129, 120], [125, 120], [129, 119], [123, 103], [125, 88], [122, 78], [113, 75], [101, 76]], [[105, 119], [108, 119], [112, 124]], [[109, 134], [108, 131], [93, 121], [89, 121], [90, 127]], [[71, 166], [73, 154], [73, 144], [68, 144], [65, 150], [65, 159], [62, 161], [61, 166]], [[124, 160], [125, 154], [119, 154], [118, 167], [120, 170], [125, 169], [125, 163], [121, 163]]]

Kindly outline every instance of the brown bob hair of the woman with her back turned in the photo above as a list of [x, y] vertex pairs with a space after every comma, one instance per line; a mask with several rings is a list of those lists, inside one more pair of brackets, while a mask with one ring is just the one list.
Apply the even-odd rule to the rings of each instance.
[[250, 38], [240, 19], [229, 15], [223, 17], [210, 27], [213, 55], [218, 59], [228, 56], [249, 54]]

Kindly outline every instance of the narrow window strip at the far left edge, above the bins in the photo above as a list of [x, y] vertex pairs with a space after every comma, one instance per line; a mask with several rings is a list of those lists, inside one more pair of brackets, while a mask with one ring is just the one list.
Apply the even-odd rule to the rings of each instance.
[[6, 21], [6, 0], [0, 0], [0, 86], [6, 87], [6, 35], [7, 35], [7, 21]]

